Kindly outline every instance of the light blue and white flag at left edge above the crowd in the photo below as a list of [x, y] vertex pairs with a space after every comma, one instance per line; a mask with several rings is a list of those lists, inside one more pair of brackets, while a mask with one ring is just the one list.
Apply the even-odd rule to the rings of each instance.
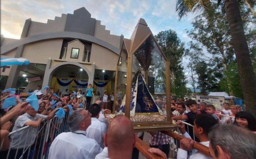
[[30, 62], [26, 58], [8, 58], [8, 57], [1, 57], [0, 58], [0, 65], [3, 66], [10, 66], [10, 65], [29, 65]]

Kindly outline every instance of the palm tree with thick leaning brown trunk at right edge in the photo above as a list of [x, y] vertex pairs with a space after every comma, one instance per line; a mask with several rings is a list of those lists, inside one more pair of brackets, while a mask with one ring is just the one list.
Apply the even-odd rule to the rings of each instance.
[[[218, 5], [225, 7], [230, 34], [237, 59], [241, 86], [246, 110], [256, 117], [256, 76], [244, 35], [243, 22], [238, 0], [218, 0]], [[211, 7], [211, 0], [176, 0], [176, 12], [179, 20], [189, 12], [195, 13]]]

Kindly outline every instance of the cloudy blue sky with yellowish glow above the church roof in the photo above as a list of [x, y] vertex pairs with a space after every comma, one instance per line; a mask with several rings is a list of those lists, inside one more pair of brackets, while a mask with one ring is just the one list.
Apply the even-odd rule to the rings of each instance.
[[[101, 21], [111, 34], [130, 38], [140, 18], [144, 18], [154, 35], [164, 30], [175, 30], [187, 43], [185, 29], [191, 29], [195, 15], [177, 20], [175, 0], [1, 0], [1, 34], [19, 39], [25, 20], [46, 23], [47, 19], [73, 14], [85, 7], [92, 18]], [[184, 66], [187, 61], [184, 60]]]

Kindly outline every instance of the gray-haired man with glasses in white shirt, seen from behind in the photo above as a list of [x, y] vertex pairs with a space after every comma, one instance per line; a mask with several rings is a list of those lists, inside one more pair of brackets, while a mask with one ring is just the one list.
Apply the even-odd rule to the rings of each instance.
[[61, 133], [49, 149], [48, 159], [93, 159], [102, 151], [100, 145], [86, 136], [91, 124], [90, 112], [78, 108], [68, 118], [71, 132]]

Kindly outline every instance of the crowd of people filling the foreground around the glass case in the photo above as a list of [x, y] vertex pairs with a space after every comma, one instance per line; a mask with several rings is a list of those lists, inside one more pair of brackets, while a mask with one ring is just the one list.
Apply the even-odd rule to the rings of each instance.
[[[47, 121], [56, 116], [60, 122], [52, 122], [52, 128], [58, 129], [58, 125], [66, 122], [69, 131], [51, 136], [45, 158], [139, 158], [135, 144], [137, 137], [143, 139], [144, 133], [134, 133], [131, 120], [125, 116], [117, 115], [110, 123], [104, 117], [104, 114], [111, 113], [111, 110], [106, 109], [106, 103], [109, 97], [114, 101], [113, 93], [108, 96], [104, 92], [102, 100], [91, 104], [94, 92], [91, 84], [84, 93], [81, 89], [73, 92], [66, 89], [61, 93], [48, 87], [38, 87], [35, 91], [30, 90], [20, 95], [11, 92], [8, 89], [1, 92], [1, 158], [38, 158], [34, 155], [31, 157], [28, 147], [34, 149], [31, 151], [33, 153], [43, 153], [35, 144], [37, 136], [40, 135], [39, 127], [43, 120]], [[166, 98], [156, 99], [155, 102], [160, 109], [167, 109]], [[223, 110], [216, 110], [214, 105], [204, 102], [197, 104], [192, 99], [171, 99], [172, 120], [178, 124], [184, 137], [176, 142], [176, 158], [255, 158], [254, 116], [250, 112], [242, 111], [239, 106], [229, 106], [229, 103], [224, 103], [223, 107]], [[184, 123], [193, 127], [189, 130]], [[22, 128], [24, 130], [20, 131]], [[12, 135], [9, 135], [10, 132]], [[171, 137], [160, 131], [148, 133], [151, 147], [148, 152], [168, 158]], [[209, 147], [212, 157], [193, 149], [195, 142]]]

